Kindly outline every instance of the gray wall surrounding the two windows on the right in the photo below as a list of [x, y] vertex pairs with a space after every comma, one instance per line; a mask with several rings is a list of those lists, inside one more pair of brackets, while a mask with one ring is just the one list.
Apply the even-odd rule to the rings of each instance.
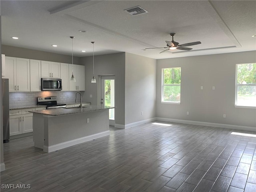
[[[256, 127], [256, 109], [234, 107], [236, 64], [255, 63], [255, 55], [251, 51], [157, 60], [156, 117]], [[181, 67], [180, 105], [161, 104], [161, 70], [170, 67]]]

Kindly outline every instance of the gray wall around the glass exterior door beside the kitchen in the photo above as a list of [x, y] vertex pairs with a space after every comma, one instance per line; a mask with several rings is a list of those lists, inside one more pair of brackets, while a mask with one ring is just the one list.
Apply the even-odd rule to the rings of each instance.
[[[91, 83], [92, 80], [92, 56], [81, 58], [81, 64], [85, 65], [85, 93], [83, 100], [97, 105], [99, 76], [115, 75], [115, 121], [116, 124], [125, 124], [125, 53], [106, 54], [94, 56], [94, 73], [97, 83]], [[90, 98], [92, 94], [92, 98]]]

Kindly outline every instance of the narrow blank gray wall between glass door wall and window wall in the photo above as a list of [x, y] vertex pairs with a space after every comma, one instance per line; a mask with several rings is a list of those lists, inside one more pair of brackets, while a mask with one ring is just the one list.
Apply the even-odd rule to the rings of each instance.
[[156, 60], [126, 53], [125, 124], [154, 117], [156, 117]]

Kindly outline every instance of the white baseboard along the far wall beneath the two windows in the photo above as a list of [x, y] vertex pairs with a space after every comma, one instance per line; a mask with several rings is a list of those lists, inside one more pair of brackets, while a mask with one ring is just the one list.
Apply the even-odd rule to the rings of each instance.
[[220, 128], [228, 128], [228, 129], [239, 129], [239, 130], [246, 130], [246, 131], [256, 131], [256, 127], [248, 127], [248, 126], [240, 126], [240, 125], [190, 121], [190, 120], [181, 120], [181, 119], [170, 119], [170, 118], [161, 118], [161, 117], [157, 117], [156, 120], [166, 121], [166, 122], [174, 122], [174, 123], [210, 126], [210, 127], [220, 127]]

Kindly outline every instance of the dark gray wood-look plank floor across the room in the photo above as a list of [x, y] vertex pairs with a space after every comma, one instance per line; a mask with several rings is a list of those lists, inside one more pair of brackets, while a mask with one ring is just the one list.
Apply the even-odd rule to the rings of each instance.
[[231, 134], [256, 132], [167, 124], [110, 128], [110, 136], [51, 153], [34, 148], [32, 136], [11, 140], [1, 191], [256, 192], [256, 138]]

